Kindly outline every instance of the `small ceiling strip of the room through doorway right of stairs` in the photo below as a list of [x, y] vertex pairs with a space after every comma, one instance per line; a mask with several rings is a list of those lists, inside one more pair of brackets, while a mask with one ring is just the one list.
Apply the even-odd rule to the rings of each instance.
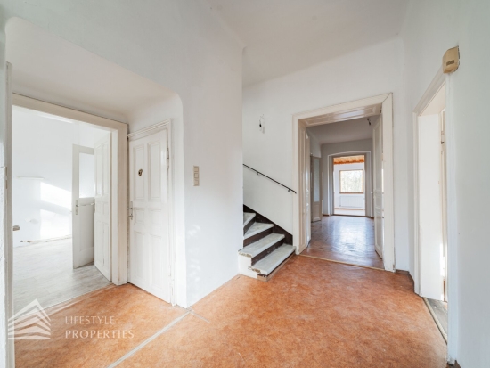
[[[371, 118], [371, 121], [375, 120], [374, 117]], [[373, 127], [369, 125], [367, 118], [361, 118], [307, 127], [306, 130], [309, 134], [314, 135], [318, 143], [328, 144], [370, 139]]]

